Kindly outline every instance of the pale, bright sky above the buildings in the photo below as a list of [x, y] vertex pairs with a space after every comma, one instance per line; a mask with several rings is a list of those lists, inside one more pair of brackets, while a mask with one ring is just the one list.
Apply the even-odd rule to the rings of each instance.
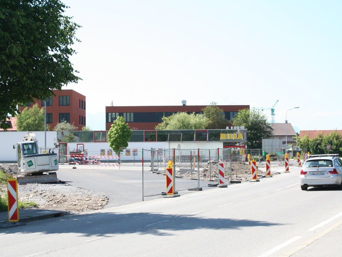
[[[105, 106], [250, 105], [295, 130], [342, 129], [342, 1], [62, 0], [87, 125]], [[290, 110], [294, 107], [298, 109]], [[290, 111], [288, 111], [290, 110]], [[264, 110], [271, 121], [270, 110]]]

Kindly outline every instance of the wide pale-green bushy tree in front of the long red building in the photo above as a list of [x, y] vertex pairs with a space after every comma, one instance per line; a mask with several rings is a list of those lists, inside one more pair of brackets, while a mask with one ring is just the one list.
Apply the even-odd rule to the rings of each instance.
[[169, 117], [163, 117], [156, 130], [201, 130], [205, 129], [209, 119], [203, 114], [187, 114], [186, 112], [177, 112]]

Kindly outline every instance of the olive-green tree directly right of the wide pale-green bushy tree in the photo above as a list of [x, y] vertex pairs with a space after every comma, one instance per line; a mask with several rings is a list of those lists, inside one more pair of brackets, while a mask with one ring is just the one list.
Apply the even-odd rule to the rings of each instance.
[[216, 102], [211, 102], [209, 106], [202, 109], [205, 117], [209, 119], [206, 129], [216, 130], [225, 129], [228, 125], [228, 120], [224, 117], [223, 110], [216, 105]]

